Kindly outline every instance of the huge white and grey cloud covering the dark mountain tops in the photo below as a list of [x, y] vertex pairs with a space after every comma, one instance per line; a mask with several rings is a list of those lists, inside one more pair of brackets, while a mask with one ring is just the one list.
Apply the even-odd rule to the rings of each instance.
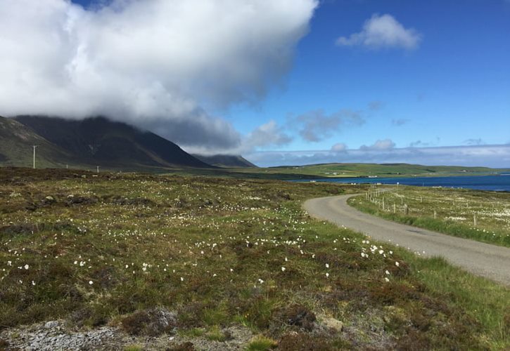
[[242, 148], [210, 111], [278, 84], [317, 4], [113, 0], [87, 11], [66, 0], [1, 0], [0, 114], [103, 114], [184, 147]]

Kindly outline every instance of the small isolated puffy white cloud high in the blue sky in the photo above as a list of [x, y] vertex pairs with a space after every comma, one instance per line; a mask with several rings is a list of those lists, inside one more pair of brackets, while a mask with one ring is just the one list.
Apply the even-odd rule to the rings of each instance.
[[336, 39], [338, 46], [366, 46], [367, 48], [417, 48], [421, 34], [405, 28], [392, 15], [374, 14], [364, 22], [362, 31]]

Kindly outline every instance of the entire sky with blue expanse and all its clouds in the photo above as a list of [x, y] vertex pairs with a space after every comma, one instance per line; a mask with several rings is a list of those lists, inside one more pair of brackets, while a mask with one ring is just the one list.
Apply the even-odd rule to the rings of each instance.
[[0, 0], [0, 115], [260, 166], [510, 167], [508, 0]]

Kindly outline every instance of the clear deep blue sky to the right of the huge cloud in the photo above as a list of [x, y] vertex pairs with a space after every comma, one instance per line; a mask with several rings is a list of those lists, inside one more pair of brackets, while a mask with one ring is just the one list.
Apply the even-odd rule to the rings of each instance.
[[[412, 49], [339, 47], [374, 13], [422, 36]], [[331, 1], [314, 14], [283, 90], [258, 109], [228, 114], [241, 131], [260, 119], [323, 109], [362, 113], [365, 124], [287, 150], [358, 148], [389, 138], [396, 147], [510, 142], [510, 3], [505, 1]], [[378, 102], [376, 110], [368, 107]], [[240, 118], [241, 117], [241, 118]], [[392, 123], [393, 121], [393, 123]]]

